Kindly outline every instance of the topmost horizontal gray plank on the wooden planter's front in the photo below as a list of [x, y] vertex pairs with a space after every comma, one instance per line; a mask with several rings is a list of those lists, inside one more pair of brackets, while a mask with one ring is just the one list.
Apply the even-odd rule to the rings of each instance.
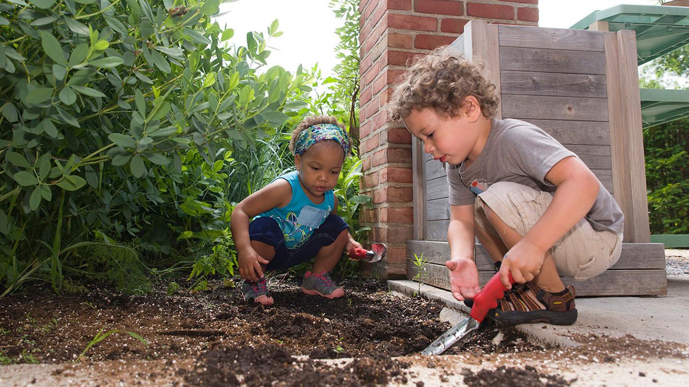
[[599, 51], [603, 36], [586, 30], [500, 25], [500, 45], [506, 47], [555, 48], [559, 50]]

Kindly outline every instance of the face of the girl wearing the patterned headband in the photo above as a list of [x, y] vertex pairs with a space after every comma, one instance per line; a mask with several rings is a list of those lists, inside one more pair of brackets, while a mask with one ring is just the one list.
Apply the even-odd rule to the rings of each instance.
[[338, 183], [345, 151], [335, 141], [325, 140], [311, 145], [304, 154], [294, 156], [299, 180], [311, 201], [320, 203]]

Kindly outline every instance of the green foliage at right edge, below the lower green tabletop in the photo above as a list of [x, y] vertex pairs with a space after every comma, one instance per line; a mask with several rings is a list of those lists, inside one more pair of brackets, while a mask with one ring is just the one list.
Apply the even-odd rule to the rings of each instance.
[[650, 232], [689, 233], [689, 118], [644, 129]]

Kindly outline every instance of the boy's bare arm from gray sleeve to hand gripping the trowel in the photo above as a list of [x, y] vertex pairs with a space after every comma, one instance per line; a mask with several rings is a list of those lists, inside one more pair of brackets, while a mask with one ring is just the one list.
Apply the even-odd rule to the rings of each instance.
[[[593, 172], [579, 160], [563, 158], [548, 171], [546, 180], [557, 187], [551, 205], [520, 242], [508, 251], [503, 260], [508, 265], [500, 270], [502, 283], [510, 289], [508, 270], [516, 282], [533, 280], [537, 275], [548, 249], [574, 227], [593, 207], [600, 183]], [[509, 259], [508, 259], [509, 258]]]

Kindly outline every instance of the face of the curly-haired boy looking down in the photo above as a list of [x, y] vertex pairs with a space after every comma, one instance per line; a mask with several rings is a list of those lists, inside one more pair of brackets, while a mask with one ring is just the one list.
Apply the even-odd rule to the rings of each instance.
[[409, 132], [424, 142], [424, 152], [440, 163], [462, 163], [476, 143], [477, 133], [464, 109], [454, 117], [439, 116], [431, 107], [415, 109], [403, 121]]

